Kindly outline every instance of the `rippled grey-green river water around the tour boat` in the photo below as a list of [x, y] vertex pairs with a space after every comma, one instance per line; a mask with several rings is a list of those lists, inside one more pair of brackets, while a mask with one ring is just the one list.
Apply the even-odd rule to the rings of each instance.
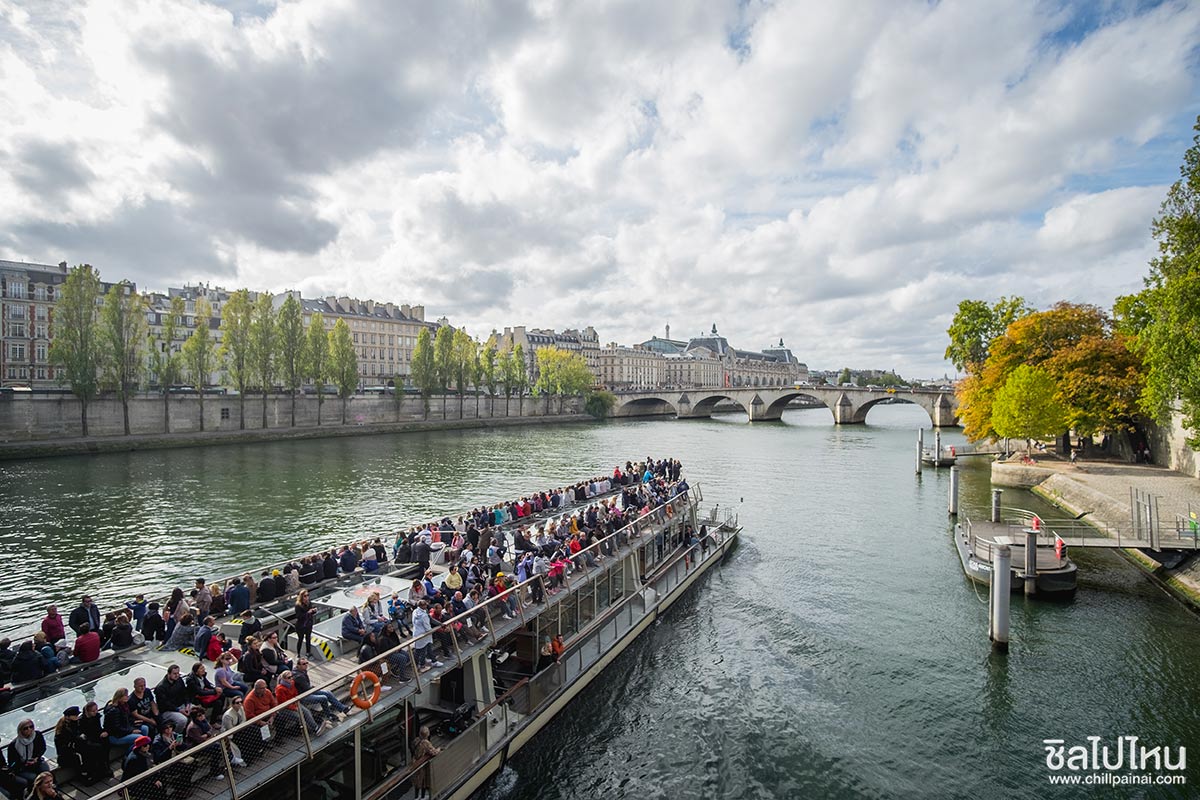
[[[842, 428], [817, 409], [754, 426], [546, 425], [4, 464], [0, 627], [28, 630], [47, 597], [66, 612], [88, 590], [106, 607], [674, 456], [707, 501], [739, 506], [740, 547], [505, 766], [490, 800], [1196, 796], [1190, 762], [1186, 787], [1049, 784], [1043, 739], [1200, 744], [1200, 620], [1120, 557], [1073, 552], [1076, 597], [1014, 597], [1012, 651], [989, 656], [984, 597], [950, 540], [948, 474], [913, 475], [922, 425], [924, 411], [890, 405]], [[986, 515], [985, 464], [965, 469], [962, 500]], [[1052, 515], [1025, 493], [1004, 505]]]

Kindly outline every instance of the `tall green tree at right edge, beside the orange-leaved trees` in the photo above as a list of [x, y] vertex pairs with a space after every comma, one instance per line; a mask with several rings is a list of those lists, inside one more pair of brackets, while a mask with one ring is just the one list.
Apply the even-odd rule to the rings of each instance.
[[1135, 348], [1146, 365], [1141, 408], [1163, 421], [1177, 403], [1192, 432], [1188, 446], [1200, 449], [1200, 118], [1194, 130], [1180, 179], [1151, 223], [1158, 254], [1146, 288], [1123, 311], [1140, 311], [1140, 319], [1127, 319], [1135, 320]]

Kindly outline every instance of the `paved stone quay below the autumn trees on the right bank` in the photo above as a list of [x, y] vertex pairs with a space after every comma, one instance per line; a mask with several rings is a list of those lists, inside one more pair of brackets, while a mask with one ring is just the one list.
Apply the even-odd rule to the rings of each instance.
[[[1177, 517], [1200, 515], [1200, 485], [1195, 479], [1153, 464], [1042, 461], [1037, 464], [994, 462], [991, 482], [997, 487], [1030, 489], [1081, 522], [1132, 530], [1132, 488], [1158, 499], [1160, 523], [1174, 528]], [[1200, 557], [1192, 554], [1175, 567], [1140, 549], [1117, 551], [1158, 585], [1200, 612]]]

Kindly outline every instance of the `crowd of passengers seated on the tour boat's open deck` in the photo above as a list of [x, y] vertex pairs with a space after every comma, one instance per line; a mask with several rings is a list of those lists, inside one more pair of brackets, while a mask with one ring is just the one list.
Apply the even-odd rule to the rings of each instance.
[[[418, 643], [416, 668], [440, 667], [439, 656], [452, 656], [451, 618], [468, 615], [466, 622], [452, 622], [454, 631], [478, 640], [486, 636], [487, 619], [479, 608], [486, 600], [502, 597], [503, 615], [509, 619], [518, 613], [518, 603], [542, 602], [542, 587], [553, 594], [566, 573], [598, 566], [623, 543], [614, 541], [614, 534], [655, 510], [662, 513], [660, 506], [688, 492], [680, 471], [674, 459], [626, 462], [611, 475], [480, 506], [457, 521], [446, 517], [414, 527], [398, 534], [390, 548], [376, 537], [300, 558], [263, 571], [257, 579], [248, 572], [224, 587], [197, 579], [190, 593], [176, 588], [164, 603], [137, 595], [125, 608], [102, 614], [85, 595], [65, 621], [52, 604], [40, 630], [16, 649], [11, 639], [0, 639], [0, 686], [11, 698], [13, 684], [37, 681], [68, 664], [97, 661], [104, 650], [143, 643], [194, 654], [197, 660], [186, 675], [172, 664], [154, 688], [137, 678], [103, 706], [90, 702], [65, 709], [53, 730], [58, 765], [83, 783], [95, 783], [112, 776], [115, 750], [122, 753], [126, 780], [155, 764], [173, 764], [150, 782], [155, 790], [181, 790], [199, 769], [223, 780], [224, 763], [211, 754], [218, 753], [215, 748], [205, 758], [178, 757], [222, 729], [258, 716], [256, 726], [233, 736], [232, 764], [245, 766], [269, 739], [258, 728], [298, 734], [304, 726], [319, 734], [353, 711], [326, 691], [296, 699], [312, 688], [308, 657], [316, 609], [311, 587], [340, 575], [386, 570], [389, 559], [416, 563], [422, 577], [413, 581], [406, 597], [397, 593], [384, 601], [379, 593], [372, 594], [361, 608], [346, 614], [341, 632], [358, 646], [360, 662], [396, 649], [412, 636]], [[601, 545], [592, 548], [598, 541]], [[431, 570], [436, 554], [449, 564], [437, 583]], [[514, 587], [539, 575], [545, 581], [529, 584], [529, 594], [518, 597]], [[283, 649], [278, 632], [262, 636], [260, 624], [247, 614], [256, 603], [292, 596], [294, 655]], [[230, 642], [217, 620], [242, 615], [247, 619], [241, 634]], [[67, 631], [74, 634], [70, 644]], [[562, 640], [557, 644], [560, 652]], [[214, 666], [211, 676], [206, 662]], [[407, 657], [394, 655], [390, 664], [400, 680], [410, 678]], [[19, 723], [17, 736], [4, 751], [0, 794], [61, 796], [46, 760], [47, 733], [31, 720]]]

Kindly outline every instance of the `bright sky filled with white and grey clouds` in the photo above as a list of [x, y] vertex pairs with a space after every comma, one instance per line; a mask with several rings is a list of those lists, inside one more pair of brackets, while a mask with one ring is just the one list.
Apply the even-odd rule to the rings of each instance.
[[954, 374], [1110, 308], [1200, 2], [0, 0], [0, 258]]

